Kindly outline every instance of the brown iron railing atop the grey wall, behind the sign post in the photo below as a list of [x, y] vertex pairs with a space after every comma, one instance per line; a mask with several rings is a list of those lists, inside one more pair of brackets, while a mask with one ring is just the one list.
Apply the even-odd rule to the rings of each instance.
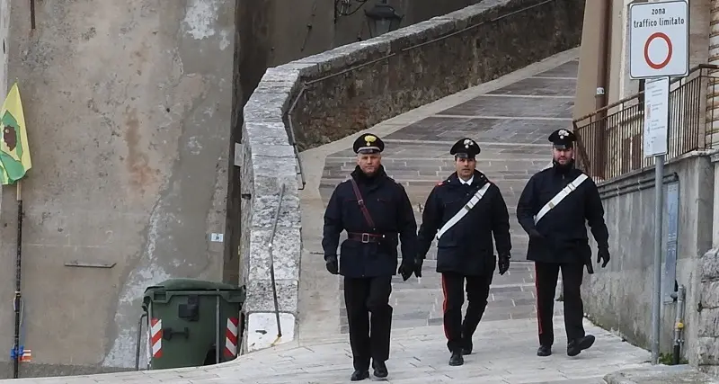
[[[666, 160], [711, 147], [706, 133], [715, 119], [706, 107], [706, 93], [719, 91], [718, 70], [699, 65], [688, 76], [670, 80]], [[654, 165], [653, 157], [644, 156], [644, 91], [574, 120], [573, 129], [577, 165], [597, 181]]]

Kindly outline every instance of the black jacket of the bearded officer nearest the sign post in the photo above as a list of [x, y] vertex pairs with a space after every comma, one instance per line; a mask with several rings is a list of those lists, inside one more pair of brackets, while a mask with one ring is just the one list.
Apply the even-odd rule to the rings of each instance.
[[586, 263], [590, 261], [591, 248], [587, 237], [585, 219], [599, 247], [608, 247], [609, 234], [604, 223], [604, 208], [595, 184], [588, 178], [579, 188], [570, 192], [563, 201], [537, 222], [534, 217], [544, 205], [580, 174], [572, 168], [562, 172], [556, 167], [534, 174], [524, 187], [517, 203], [519, 225], [529, 232], [537, 228], [546, 241], [530, 238], [527, 259], [546, 263]]

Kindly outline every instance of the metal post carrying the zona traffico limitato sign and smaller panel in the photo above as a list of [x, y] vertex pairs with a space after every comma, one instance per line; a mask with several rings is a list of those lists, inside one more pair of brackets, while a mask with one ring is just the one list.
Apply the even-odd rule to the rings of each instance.
[[670, 76], [687, 76], [689, 72], [689, 5], [687, 0], [635, 3], [629, 6], [629, 19], [629, 75], [633, 79], [651, 79], [644, 87], [644, 156], [654, 156], [655, 164], [652, 364], [657, 364]]

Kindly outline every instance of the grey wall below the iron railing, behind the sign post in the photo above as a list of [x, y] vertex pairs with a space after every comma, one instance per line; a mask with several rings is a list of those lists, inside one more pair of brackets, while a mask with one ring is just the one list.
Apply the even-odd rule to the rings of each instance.
[[[702, 301], [717, 306], [715, 295], [702, 298], [697, 285], [707, 280], [702, 255], [712, 246], [712, 206], [714, 193], [713, 165], [706, 153], [692, 153], [672, 159], [664, 168], [664, 223], [662, 226], [662, 285], [660, 353], [672, 353], [676, 302], [670, 299], [674, 281], [687, 290], [686, 325], [682, 357], [697, 364], [699, 344], [697, 331], [701, 317], [711, 311], [698, 312]], [[609, 229], [607, 268], [595, 266], [595, 273], [585, 275], [582, 285], [584, 312], [599, 326], [612, 329], [626, 340], [646, 349], [652, 345], [652, 297], [654, 257], [654, 183], [653, 168], [640, 170], [599, 184]], [[676, 273], [666, 274], [669, 228], [668, 188], [679, 184]], [[593, 255], [596, 243], [592, 240]], [[707, 254], [705, 258], [709, 258]], [[710, 261], [706, 263], [711, 264]], [[670, 263], [670, 266], [672, 264]], [[716, 270], [714, 265], [714, 270]], [[715, 333], [715, 326], [712, 332]]]

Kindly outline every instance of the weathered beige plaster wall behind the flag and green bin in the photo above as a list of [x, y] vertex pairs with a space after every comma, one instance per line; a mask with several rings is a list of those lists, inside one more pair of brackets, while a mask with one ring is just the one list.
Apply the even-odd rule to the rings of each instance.
[[[20, 80], [33, 160], [22, 187], [33, 362], [22, 376], [134, 367], [145, 287], [221, 279], [224, 246], [209, 236], [225, 228], [235, 2], [39, 1], [34, 31], [29, 2], [10, 4], [7, 78]], [[5, 351], [14, 198], [5, 188]]]

